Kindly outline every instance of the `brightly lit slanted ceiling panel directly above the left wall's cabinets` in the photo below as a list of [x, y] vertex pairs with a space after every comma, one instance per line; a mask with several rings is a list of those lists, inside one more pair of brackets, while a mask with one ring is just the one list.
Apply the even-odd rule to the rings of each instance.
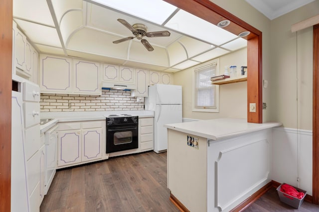
[[58, 33], [56, 32], [55, 28], [19, 19], [15, 19], [14, 21], [33, 43], [62, 48]]

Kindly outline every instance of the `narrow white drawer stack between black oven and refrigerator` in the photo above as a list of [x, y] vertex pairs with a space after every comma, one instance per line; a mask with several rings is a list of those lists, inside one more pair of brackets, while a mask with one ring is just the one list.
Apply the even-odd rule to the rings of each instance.
[[149, 151], [154, 149], [154, 118], [139, 119], [139, 141], [140, 151]]

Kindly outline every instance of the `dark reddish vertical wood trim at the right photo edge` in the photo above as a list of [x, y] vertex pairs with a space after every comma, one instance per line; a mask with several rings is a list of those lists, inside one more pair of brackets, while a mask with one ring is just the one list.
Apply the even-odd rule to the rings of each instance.
[[319, 24], [313, 27], [313, 202], [319, 204]]

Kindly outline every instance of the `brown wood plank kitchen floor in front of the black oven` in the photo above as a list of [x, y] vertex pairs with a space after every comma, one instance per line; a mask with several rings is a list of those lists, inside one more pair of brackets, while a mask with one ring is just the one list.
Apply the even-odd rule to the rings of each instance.
[[150, 151], [57, 171], [40, 212], [178, 212], [166, 156]]

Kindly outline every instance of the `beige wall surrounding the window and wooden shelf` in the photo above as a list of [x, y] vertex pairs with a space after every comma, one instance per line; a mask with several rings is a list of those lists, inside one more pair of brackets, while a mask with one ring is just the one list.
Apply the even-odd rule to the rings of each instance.
[[[225, 66], [247, 66], [247, 48], [219, 58], [219, 72]], [[183, 87], [183, 118], [216, 119], [222, 117], [247, 118], [247, 82], [225, 84], [219, 86], [219, 113], [192, 112], [192, 83], [194, 68], [178, 71], [174, 74], [174, 84]]]

